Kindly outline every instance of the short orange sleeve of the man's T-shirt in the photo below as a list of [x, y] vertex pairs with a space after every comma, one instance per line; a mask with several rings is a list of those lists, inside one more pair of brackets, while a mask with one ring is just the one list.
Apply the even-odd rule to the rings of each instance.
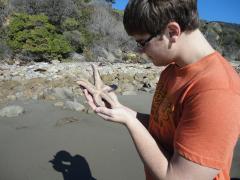
[[239, 96], [226, 90], [208, 90], [187, 98], [182, 109], [175, 149], [200, 165], [225, 167], [239, 136]]

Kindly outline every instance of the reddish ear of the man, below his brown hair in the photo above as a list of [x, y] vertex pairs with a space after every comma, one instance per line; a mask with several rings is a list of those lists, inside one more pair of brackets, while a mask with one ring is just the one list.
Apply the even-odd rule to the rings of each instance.
[[170, 22], [167, 25], [167, 32], [169, 36], [169, 41], [175, 43], [181, 35], [181, 27], [176, 22]]

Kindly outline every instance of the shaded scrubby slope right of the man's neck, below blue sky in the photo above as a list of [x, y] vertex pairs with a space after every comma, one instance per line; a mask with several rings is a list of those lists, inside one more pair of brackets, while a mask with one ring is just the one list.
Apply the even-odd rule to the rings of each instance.
[[224, 57], [230, 61], [240, 61], [240, 25], [201, 21], [200, 29]]

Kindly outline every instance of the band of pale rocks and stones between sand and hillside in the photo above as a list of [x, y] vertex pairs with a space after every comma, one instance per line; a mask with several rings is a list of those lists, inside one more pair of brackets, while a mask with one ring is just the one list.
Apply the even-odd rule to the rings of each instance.
[[[138, 91], [152, 93], [164, 67], [148, 64], [96, 63], [99, 73], [107, 85], [117, 85], [116, 92], [121, 95], [136, 95]], [[93, 62], [60, 63], [31, 63], [23, 65], [16, 61], [14, 64], [0, 64], [0, 105], [13, 100], [48, 100], [55, 106], [90, 112], [82, 91], [75, 83], [79, 79], [93, 82]], [[232, 65], [239, 72], [238, 63]], [[2, 116], [12, 116], [13, 107], [0, 111]], [[20, 108], [21, 109], [21, 108]], [[3, 112], [4, 111], [4, 112]], [[23, 112], [15, 107], [18, 114]]]

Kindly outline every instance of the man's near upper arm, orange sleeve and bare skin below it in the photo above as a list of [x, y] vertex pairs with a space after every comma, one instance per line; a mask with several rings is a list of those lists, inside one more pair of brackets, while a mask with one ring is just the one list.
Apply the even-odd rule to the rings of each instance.
[[240, 101], [234, 98], [225, 91], [208, 91], [186, 101], [175, 131], [169, 177], [213, 179], [228, 166], [239, 133]]

